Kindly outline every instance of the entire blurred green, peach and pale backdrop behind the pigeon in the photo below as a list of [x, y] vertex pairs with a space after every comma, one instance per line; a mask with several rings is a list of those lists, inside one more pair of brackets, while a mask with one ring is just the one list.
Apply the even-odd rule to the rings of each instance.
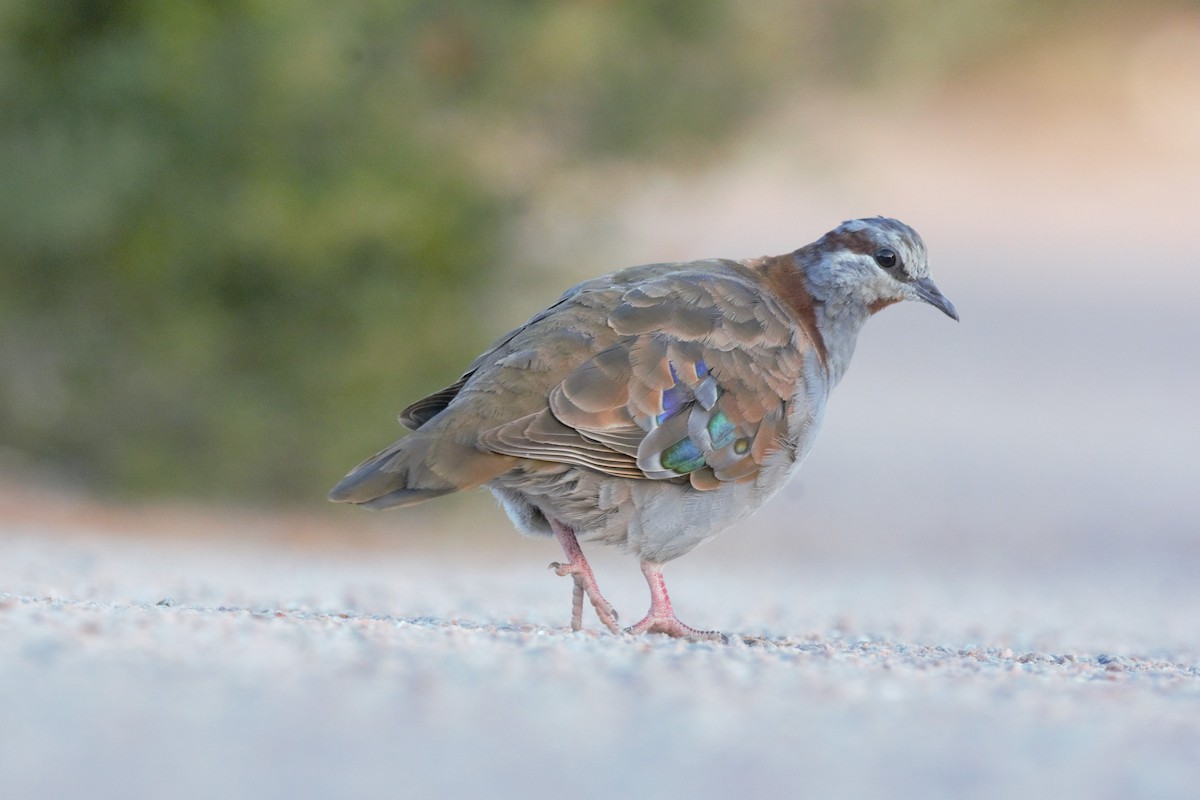
[[1200, 564], [1200, 2], [7, 0], [0, 109], [7, 483], [326, 513], [577, 281], [883, 213], [962, 323], [718, 557]]

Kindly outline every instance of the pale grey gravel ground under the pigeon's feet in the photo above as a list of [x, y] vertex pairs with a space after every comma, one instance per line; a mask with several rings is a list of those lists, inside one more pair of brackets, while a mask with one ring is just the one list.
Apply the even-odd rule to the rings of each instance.
[[[0, 522], [4, 798], [1200, 796], [1186, 570], [714, 543], [668, 579], [721, 645], [565, 630], [552, 542], [509, 531], [170, 528]], [[593, 560], [640, 614], [635, 564]]]

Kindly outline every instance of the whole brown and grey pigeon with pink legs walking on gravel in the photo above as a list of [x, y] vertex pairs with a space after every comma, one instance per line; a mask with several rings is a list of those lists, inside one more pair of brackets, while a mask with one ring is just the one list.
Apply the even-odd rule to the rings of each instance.
[[624, 633], [724, 639], [676, 615], [664, 564], [748, 517], [796, 473], [864, 323], [905, 300], [958, 321], [925, 242], [850, 219], [794, 252], [632, 266], [584, 281], [401, 415], [412, 432], [329, 494], [367, 509], [486, 487], [518, 531], [553, 536], [622, 633], [580, 545], [624, 547], [650, 591]]

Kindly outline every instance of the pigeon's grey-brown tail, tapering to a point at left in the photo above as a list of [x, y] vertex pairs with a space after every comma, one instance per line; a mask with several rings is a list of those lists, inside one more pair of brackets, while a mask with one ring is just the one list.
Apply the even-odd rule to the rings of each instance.
[[334, 503], [396, 509], [469, 489], [496, 477], [511, 458], [482, 452], [445, 435], [413, 433], [380, 450], [338, 481]]

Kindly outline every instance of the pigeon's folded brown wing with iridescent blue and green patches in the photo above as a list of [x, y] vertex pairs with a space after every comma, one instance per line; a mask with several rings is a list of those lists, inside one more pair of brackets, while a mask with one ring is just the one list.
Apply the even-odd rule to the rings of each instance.
[[562, 332], [578, 314], [578, 341], [599, 351], [478, 446], [622, 477], [686, 476], [698, 489], [754, 480], [785, 446], [804, 360], [818, 357], [796, 318], [733, 269], [677, 270], [601, 295], [554, 315]]

